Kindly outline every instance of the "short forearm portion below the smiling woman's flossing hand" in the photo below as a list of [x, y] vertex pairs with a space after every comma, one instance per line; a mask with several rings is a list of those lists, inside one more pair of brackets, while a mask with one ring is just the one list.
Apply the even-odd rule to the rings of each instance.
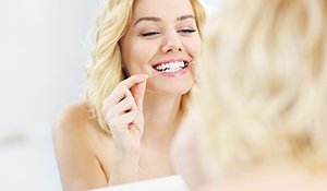
[[117, 158], [109, 177], [109, 186], [122, 184], [140, 180], [140, 157]]

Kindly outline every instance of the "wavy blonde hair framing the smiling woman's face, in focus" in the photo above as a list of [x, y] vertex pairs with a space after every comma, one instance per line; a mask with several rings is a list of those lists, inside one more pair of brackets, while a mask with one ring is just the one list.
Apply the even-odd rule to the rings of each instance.
[[[202, 35], [205, 10], [198, 0], [190, 0]], [[102, 117], [102, 102], [124, 80], [119, 40], [130, 27], [134, 0], [108, 0], [97, 19], [95, 48], [87, 65], [86, 100], [101, 129], [110, 133]], [[183, 96], [182, 104], [187, 99]], [[184, 104], [183, 104], [184, 105]], [[183, 108], [182, 105], [182, 108]]]

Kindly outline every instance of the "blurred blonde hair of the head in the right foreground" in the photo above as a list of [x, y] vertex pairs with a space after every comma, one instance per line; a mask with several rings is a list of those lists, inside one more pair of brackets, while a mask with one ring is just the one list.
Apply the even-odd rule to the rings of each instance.
[[208, 23], [194, 97], [205, 166], [326, 171], [327, 1], [229, 0]]

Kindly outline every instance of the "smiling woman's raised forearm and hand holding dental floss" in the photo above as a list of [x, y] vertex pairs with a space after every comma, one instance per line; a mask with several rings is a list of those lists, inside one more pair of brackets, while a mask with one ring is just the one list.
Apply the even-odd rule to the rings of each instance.
[[138, 159], [144, 130], [143, 96], [147, 75], [122, 81], [104, 100], [102, 115], [114, 142], [114, 162], [109, 184], [140, 180]]

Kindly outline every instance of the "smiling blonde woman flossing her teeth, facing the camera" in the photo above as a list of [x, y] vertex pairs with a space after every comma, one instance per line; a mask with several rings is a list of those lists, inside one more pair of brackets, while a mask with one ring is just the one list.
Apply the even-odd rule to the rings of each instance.
[[53, 128], [64, 190], [174, 174], [169, 146], [194, 84], [204, 20], [197, 0], [108, 0], [87, 98]]

